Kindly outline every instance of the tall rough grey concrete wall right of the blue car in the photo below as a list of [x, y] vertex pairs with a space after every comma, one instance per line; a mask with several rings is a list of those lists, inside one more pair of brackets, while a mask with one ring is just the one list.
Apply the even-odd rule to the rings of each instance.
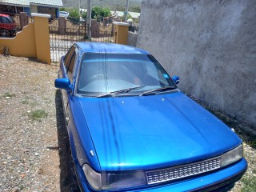
[[255, 0], [143, 0], [137, 46], [185, 93], [256, 127]]

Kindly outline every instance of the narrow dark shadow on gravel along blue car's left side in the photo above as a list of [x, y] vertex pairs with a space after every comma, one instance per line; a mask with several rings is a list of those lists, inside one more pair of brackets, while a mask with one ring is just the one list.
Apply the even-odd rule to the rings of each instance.
[[58, 133], [58, 153], [60, 165], [60, 191], [70, 191], [70, 168], [68, 166], [69, 154], [67, 147], [69, 147], [68, 134], [65, 125], [65, 118], [62, 108], [61, 91], [55, 92], [55, 108], [56, 108], [56, 126]]

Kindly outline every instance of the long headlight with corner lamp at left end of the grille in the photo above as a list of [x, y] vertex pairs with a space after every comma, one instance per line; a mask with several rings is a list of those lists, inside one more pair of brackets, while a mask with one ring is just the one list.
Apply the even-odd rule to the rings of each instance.
[[120, 190], [146, 185], [146, 175], [142, 170], [102, 172], [99, 174], [89, 165], [82, 166], [86, 179], [94, 190]]

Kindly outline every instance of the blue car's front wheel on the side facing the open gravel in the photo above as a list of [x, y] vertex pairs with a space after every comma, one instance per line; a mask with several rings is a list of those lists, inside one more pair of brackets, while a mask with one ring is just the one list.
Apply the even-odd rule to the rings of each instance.
[[66, 144], [66, 159], [67, 159], [68, 174], [70, 175], [70, 192], [80, 192], [78, 181], [77, 181], [75, 170], [74, 170], [74, 161], [73, 161], [71, 150], [70, 150], [70, 143]]

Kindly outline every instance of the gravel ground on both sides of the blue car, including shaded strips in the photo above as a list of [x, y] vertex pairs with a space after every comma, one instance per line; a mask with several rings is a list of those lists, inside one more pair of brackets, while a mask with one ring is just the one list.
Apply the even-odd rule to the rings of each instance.
[[[67, 134], [60, 92], [54, 88], [57, 74], [58, 64], [0, 55], [0, 191], [69, 191]], [[249, 162], [244, 177], [254, 180], [255, 137], [243, 134], [249, 126], [206, 108], [244, 139]], [[232, 191], [245, 185], [238, 182]]]

